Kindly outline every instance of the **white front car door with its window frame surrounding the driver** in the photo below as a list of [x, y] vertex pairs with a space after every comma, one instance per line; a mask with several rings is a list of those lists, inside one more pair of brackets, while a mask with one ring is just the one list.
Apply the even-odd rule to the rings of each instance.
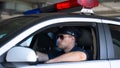
[[[72, 23], [71, 23], [72, 22]], [[74, 23], [74, 24], [73, 24]], [[7, 48], [6, 50], [2, 49], [0, 50], [0, 55], [3, 54], [8, 49], [12, 48], [19, 42], [21, 42], [23, 39], [27, 38], [33, 33], [36, 33], [43, 28], [50, 28], [51, 26], [56, 26], [57, 24], [60, 25], [80, 25], [81, 24], [89, 24], [89, 23], [95, 23], [95, 30], [96, 30], [96, 55], [94, 60], [90, 61], [83, 61], [83, 62], [64, 62], [64, 63], [51, 63], [51, 64], [36, 64], [36, 65], [16, 65], [20, 67], [40, 67], [40, 68], [73, 68], [73, 67], [79, 67], [79, 68], [110, 68], [109, 61], [107, 59], [107, 46], [106, 46], [106, 40], [105, 40], [105, 33], [103, 29], [103, 25], [101, 24], [101, 19], [99, 18], [89, 18], [89, 17], [60, 17], [60, 18], [47, 18], [44, 21], [40, 21], [40, 23], [36, 24], [33, 27], [28, 28], [18, 36], [16, 36], [13, 40], [11, 40], [9, 43], [6, 43], [2, 48]], [[71, 26], [70, 25], [70, 26]], [[16, 41], [18, 40], [18, 41]], [[14, 44], [14, 45], [11, 45]]]

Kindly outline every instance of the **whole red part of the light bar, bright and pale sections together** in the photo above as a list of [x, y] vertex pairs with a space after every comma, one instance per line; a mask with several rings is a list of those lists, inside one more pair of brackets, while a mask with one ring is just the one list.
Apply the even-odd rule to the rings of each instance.
[[67, 0], [64, 2], [60, 2], [55, 4], [55, 8], [57, 10], [64, 10], [73, 7], [84, 7], [84, 8], [93, 8], [99, 5], [98, 0]]

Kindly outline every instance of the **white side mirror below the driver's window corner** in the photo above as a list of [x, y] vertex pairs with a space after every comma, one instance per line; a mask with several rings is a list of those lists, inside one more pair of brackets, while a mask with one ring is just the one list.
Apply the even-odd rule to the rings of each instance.
[[7, 62], [36, 62], [37, 55], [34, 50], [26, 47], [13, 47], [6, 55]]

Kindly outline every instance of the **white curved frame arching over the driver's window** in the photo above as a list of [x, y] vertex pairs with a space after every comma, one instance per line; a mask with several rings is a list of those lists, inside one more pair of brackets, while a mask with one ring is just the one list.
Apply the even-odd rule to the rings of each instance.
[[[88, 20], [86, 20], [86, 19], [88, 19]], [[64, 18], [46, 19], [46, 21], [45, 20], [44, 21], [40, 21], [40, 23], [38, 23], [38, 24], [34, 25], [33, 27], [25, 30], [21, 34], [17, 35], [13, 40], [11, 40], [8, 43], [4, 44], [0, 48], [0, 52], [1, 52], [0, 55], [5, 53], [7, 50], [9, 50], [13, 46], [15, 46], [17, 43], [19, 43], [20, 41], [22, 41], [24, 38], [28, 37], [32, 33], [36, 32], [37, 30], [39, 30], [41, 28], [44, 28], [44, 27], [46, 27], [48, 25], [57, 24], [57, 23], [59, 24], [61, 22], [84, 22], [84, 21], [85, 22], [101, 23], [101, 20], [98, 19], [98, 18], [85, 18], [85, 17], [64, 17]], [[32, 29], [34, 29], [34, 30], [32, 30]], [[16, 40], [18, 40], [19, 42], [16, 41]], [[11, 45], [11, 44], [15, 44], [15, 45]]]

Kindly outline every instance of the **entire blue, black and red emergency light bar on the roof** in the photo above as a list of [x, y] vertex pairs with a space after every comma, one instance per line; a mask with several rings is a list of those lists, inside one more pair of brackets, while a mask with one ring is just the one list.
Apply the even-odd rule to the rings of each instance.
[[47, 13], [47, 12], [58, 12], [61, 10], [70, 9], [78, 6], [82, 8], [91, 9], [91, 8], [97, 7], [98, 5], [99, 5], [98, 0], [67, 0], [64, 2], [47, 6], [47, 7], [28, 10], [23, 12], [23, 14], [30, 15], [30, 14], [40, 14], [40, 13]]

